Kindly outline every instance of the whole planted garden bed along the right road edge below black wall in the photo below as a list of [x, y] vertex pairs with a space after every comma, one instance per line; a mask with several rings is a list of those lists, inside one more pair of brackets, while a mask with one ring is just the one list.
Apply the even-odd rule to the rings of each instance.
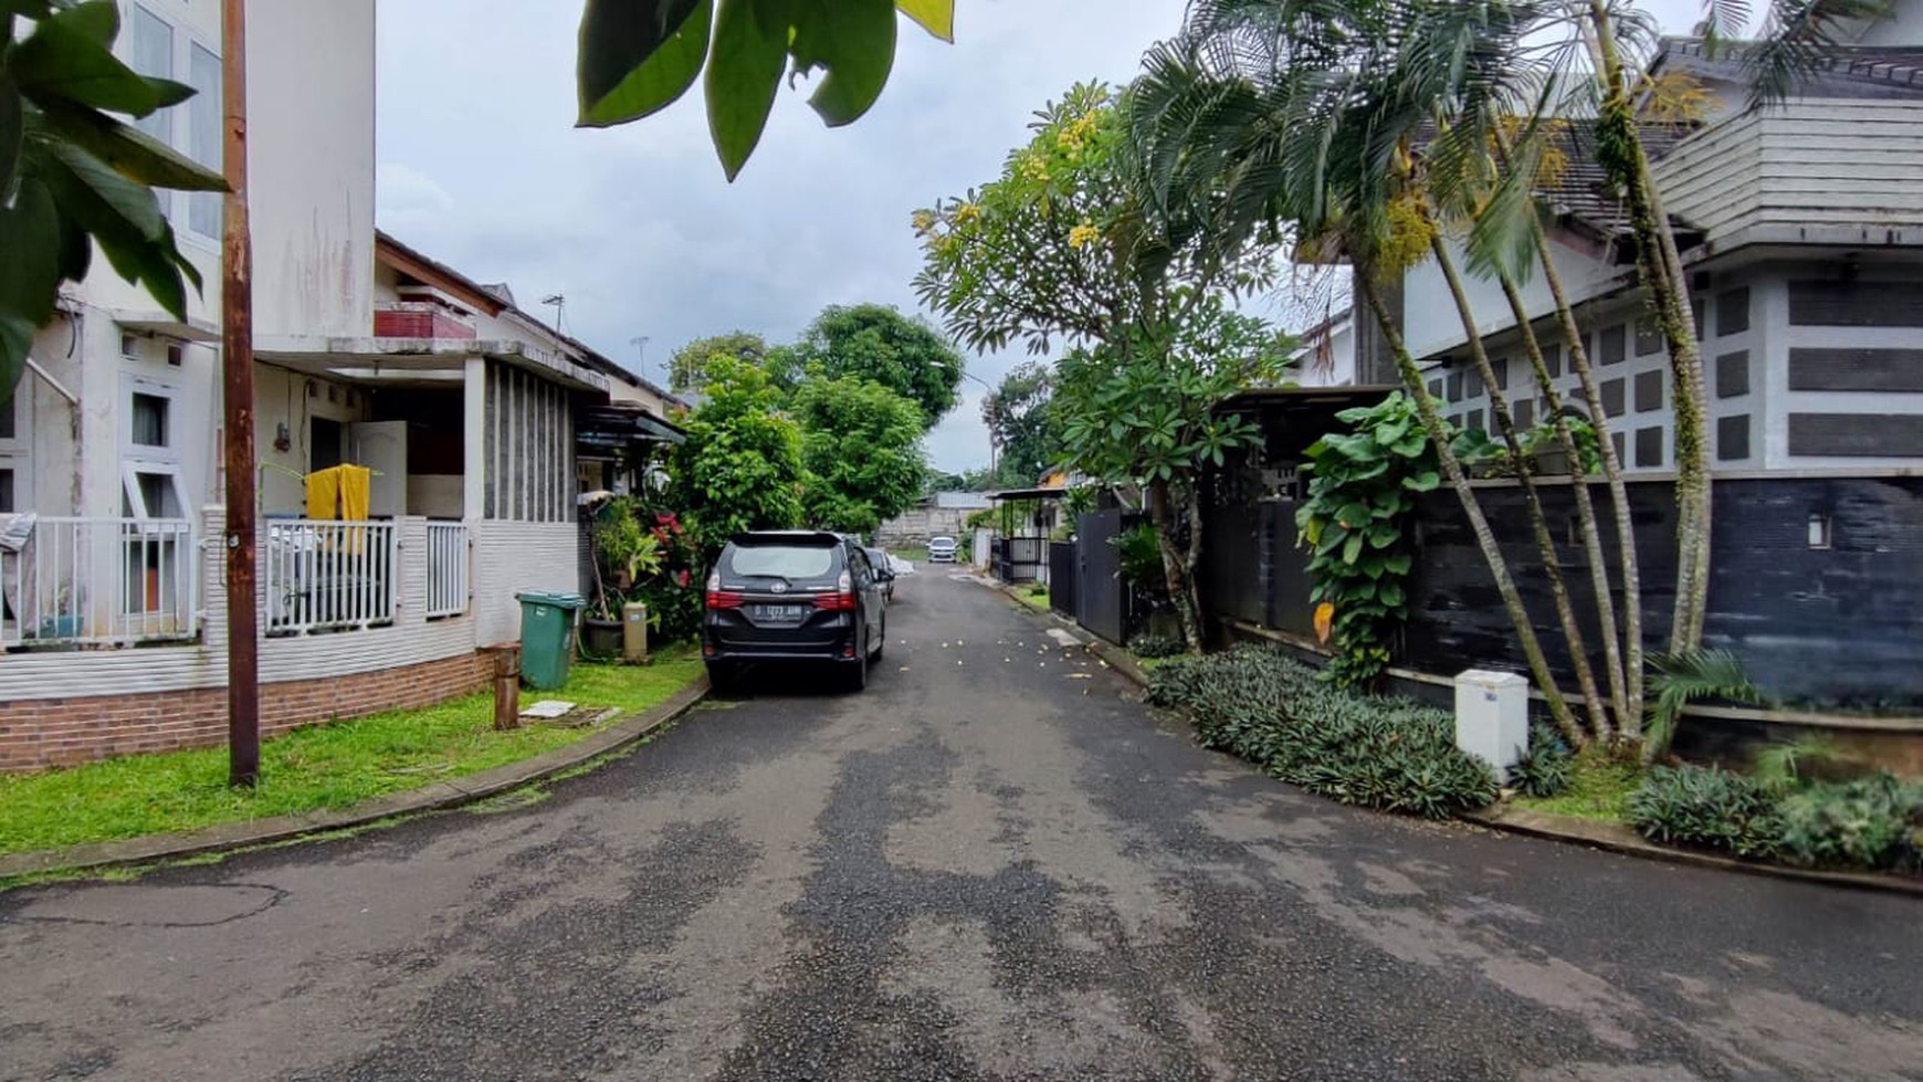
[[[1342, 803], [1440, 819], [1498, 796], [1486, 765], [1456, 748], [1448, 711], [1340, 690], [1275, 648], [1173, 657], [1148, 682], [1150, 701], [1185, 711], [1204, 746]], [[1510, 805], [1746, 861], [1923, 874], [1923, 782], [1817, 776], [1819, 767], [1821, 750], [1785, 746], [1754, 776], [1644, 771], [1600, 750], [1571, 755], [1538, 730]]]

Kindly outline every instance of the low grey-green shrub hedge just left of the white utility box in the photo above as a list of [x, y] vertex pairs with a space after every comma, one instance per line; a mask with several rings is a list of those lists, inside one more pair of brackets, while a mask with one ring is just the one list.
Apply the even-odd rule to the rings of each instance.
[[1202, 744], [1342, 803], [1442, 819], [1496, 798], [1448, 711], [1336, 688], [1275, 650], [1169, 661], [1150, 701], [1188, 711]]

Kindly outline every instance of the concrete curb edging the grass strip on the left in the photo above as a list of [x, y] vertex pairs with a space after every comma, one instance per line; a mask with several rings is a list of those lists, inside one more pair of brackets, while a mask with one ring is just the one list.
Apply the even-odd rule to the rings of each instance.
[[538, 782], [563, 771], [571, 771], [594, 757], [635, 744], [656, 728], [683, 717], [704, 698], [708, 698], [708, 676], [696, 676], [694, 682], [681, 688], [665, 701], [642, 713], [631, 715], [627, 721], [610, 725], [608, 728], [577, 740], [567, 748], [556, 748], [554, 751], [544, 751], [533, 759], [521, 759], [519, 763], [508, 763], [506, 767], [494, 767], [492, 771], [481, 771], [477, 775], [435, 782], [417, 790], [375, 798], [348, 809], [275, 815], [244, 823], [221, 823], [202, 830], [146, 834], [142, 838], [125, 838], [119, 842], [94, 842], [88, 846], [69, 846], [65, 849], [38, 849], [33, 853], [6, 855], [0, 857], [0, 880], [23, 874], [137, 865], [190, 857], [194, 853], [208, 853], [215, 849], [263, 846], [302, 838], [321, 830], [363, 826], [396, 815], [444, 811], [475, 803], [490, 796], [521, 788], [529, 782]]

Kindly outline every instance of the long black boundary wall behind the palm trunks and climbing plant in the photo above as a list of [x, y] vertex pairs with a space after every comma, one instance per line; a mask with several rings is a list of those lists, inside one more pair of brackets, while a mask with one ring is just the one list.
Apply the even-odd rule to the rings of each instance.
[[[1608, 492], [1600, 484], [1592, 492], [1613, 567]], [[1550, 667], [1573, 688], [1523, 494], [1513, 484], [1485, 484], [1479, 496], [1490, 529], [1504, 538]], [[1669, 480], [1635, 480], [1629, 496], [1644, 640], [1660, 652], [1675, 598], [1675, 490]], [[1548, 484], [1542, 500], [1575, 607], [1594, 613], [1573, 494], [1567, 484]], [[1311, 634], [1294, 507], [1290, 500], [1229, 500], [1210, 511], [1202, 586], [1211, 615]], [[1711, 544], [1706, 642], [1733, 650], [1769, 692], [1813, 705], [1923, 705], [1923, 479], [1719, 479]], [[1425, 496], [1417, 507], [1410, 598], [1398, 665], [1444, 676], [1469, 667], [1527, 669], [1452, 492]], [[1600, 673], [1600, 640], [1588, 638]]]

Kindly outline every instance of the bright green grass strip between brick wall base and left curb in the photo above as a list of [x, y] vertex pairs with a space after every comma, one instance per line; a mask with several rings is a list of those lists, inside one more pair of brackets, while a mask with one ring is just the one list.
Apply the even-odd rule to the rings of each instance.
[[[654, 665], [575, 663], [565, 688], [521, 692], [521, 703], [569, 700], [640, 711], [702, 671], [690, 646]], [[315, 725], [262, 746], [260, 788], [227, 788], [227, 750], [129, 755], [44, 775], [0, 776], [0, 853], [23, 853], [190, 830], [298, 811], [344, 809], [369, 798], [473, 775], [563, 748], [596, 732], [527, 725], [494, 732], [488, 692], [417, 711]]]

